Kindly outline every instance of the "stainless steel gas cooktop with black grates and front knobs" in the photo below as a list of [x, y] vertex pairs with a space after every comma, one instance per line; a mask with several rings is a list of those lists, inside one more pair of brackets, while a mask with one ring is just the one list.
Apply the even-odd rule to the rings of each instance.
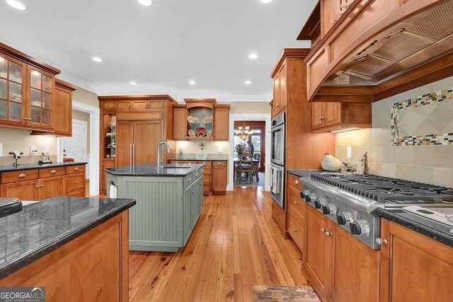
[[321, 173], [301, 178], [301, 198], [371, 248], [378, 249], [377, 208], [452, 208], [453, 189], [379, 175]]

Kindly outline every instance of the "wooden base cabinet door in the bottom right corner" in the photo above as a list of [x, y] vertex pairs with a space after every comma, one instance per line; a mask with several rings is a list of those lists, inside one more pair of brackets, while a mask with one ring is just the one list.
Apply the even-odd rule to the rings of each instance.
[[382, 219], [380, 301], [453, 301], [453, 248]]

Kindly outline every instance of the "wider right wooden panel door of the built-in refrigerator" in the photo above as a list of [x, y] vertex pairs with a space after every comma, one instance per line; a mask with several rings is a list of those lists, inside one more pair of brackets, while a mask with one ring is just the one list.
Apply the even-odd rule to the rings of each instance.
[[[161, 121], [134, 122], [134, 165], [157, 163], [157, 146], [163, 139]], [[166, 154], [166, 151], [162, 154]]]

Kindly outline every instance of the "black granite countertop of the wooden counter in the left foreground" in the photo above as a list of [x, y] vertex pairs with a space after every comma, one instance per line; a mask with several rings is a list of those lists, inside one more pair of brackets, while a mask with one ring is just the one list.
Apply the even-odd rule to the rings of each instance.
[[136, 204], [134, 199], [55, 197], [23, 202], [0, 219], [0, 279]]

